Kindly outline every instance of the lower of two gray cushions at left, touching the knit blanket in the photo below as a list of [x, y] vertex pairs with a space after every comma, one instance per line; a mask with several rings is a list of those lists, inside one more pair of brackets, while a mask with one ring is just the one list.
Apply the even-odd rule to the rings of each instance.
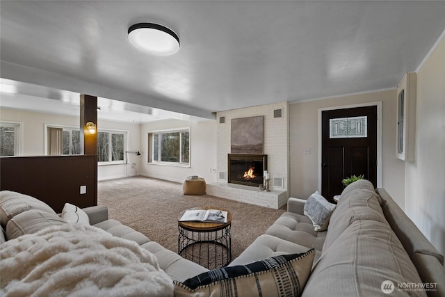
[[31, 209], [17, 214], [6, 225], [6, 238], [15, 239], [24, 234], [38, 232], [53, 225], [66, 224], [67, 221], [57, 214], [51, 214], [40, 209]]

